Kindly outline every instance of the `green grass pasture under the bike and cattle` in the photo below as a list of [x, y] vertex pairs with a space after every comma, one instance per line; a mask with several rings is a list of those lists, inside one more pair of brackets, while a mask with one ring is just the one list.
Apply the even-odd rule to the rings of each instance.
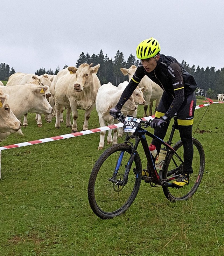
[[[224, 105], [206, 110], [195, 112], [194, 130], [205, 114], [194, 137], [206, 166], [193, 198], [171, 203], [161, 187], [142, 182], [130, 209], [112, 220], [94, 215], [87, 199], [91, 168], [103, 152], [97, 150], [99, 133], [3, 150], [0, 255], [224, 255]], [[79, 114], [80, 131], [84, 111]], [[38, 128], [34, 116], [28, 115], [25, 137], [13, 134], [0, 146], [70, 133], [65, 124], [56, 130], [55, 119]], [[96, 127], [93, 111], [89, 129]]]

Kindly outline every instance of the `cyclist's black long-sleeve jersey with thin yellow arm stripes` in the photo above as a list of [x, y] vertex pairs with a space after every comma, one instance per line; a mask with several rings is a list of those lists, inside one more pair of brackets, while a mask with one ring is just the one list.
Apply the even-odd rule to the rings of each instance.
[[121, 109], [127, 99], [131, 97], [134, 89], [145, 75], [152, 79], [153, 82], [157, 83], [163, 91], [166, 91], [169, 97], [173, 98], [173, 102], [166, 112], [166, 116], [169, 119], [179, 110], [184, 98], [192, 94], [197, 88], [194, 77], [190, 75], [174, 57], [160, 54], [156, 68], [152, 72], [146, 72], [143, 65], [139, 65], [119, 99], [117, 104], [119, 109]]

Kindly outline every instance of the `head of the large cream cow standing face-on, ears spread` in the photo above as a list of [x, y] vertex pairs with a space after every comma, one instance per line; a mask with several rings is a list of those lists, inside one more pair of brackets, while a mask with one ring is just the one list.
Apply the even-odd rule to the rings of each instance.
[[77, 92], [82, 92], [88, 89], [92, 85], [93, 74], [97, 74], [100, 64], [95, 67], [91, 67], [92, 63], [89, 65], [87, 63], [81, 64], [76, 71], [76, 83], [74, 84], [74, 90]]

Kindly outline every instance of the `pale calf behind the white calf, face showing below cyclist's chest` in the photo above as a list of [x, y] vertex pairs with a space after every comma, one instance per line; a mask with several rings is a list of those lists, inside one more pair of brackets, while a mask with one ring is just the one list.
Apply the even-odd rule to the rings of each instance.
[[[118, 89], [119, 90], [123, 90], [127, 87], [128, 85], [128, 81], [124, 81], [123, 83], [120, 83], [118, 85]], [[145, 91], [145, 87], [138, 87], [133, 91], [132, 93], [132, 97], [134, 99], [134, 103], [136, 104], [137, 108], [138, 108], [138, 105], [145, 105], [146, 101], [144, 99], [144, 96], [143, 96], [143, 92]], [[137, 109], [135, 111], [122, 111], [122, 113], [127, 116], [127, 115], [130, 115], [130, 116], [133, 116], [133, 117], [136, 117], [137, 116]], [[123, 135], [123, 128], [120, 127], [119, 128], [119, 132], [118, 132], [118, 137], [121, 137]]]

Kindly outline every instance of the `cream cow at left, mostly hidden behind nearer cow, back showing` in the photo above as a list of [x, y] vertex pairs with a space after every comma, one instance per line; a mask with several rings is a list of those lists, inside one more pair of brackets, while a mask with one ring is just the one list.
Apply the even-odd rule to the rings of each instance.
[[[50, 87], [51, 81], [53, 80], [54, 75], [48, 75], [48, 74], [43, 74], [41, 76], [34, 75], [34, 74], [26, 74], [26, 73], [21, 73], [17, 72], [9, 76], [8, 82], [6, 85], [22, 85], [22, 84], [36, 84], [36, 85], [47, 85]], [[49, 89], [50, 90], [50, 89]], [[49, 98], [50, 92], [46, 95], [47, 98]], [[49, 100], [48, 100], [49, 101]], [[47, 117], [45, 117], [47, 119]], [[41, 120], [41, 115], [36, 115], [36, 121], [37, 121], [37, 126], [42, 127], [42, 120]], [[23, 126], [28, 126], [27, 122], [27, 114], [24, 116], [24, 121], [23, 121]]]

